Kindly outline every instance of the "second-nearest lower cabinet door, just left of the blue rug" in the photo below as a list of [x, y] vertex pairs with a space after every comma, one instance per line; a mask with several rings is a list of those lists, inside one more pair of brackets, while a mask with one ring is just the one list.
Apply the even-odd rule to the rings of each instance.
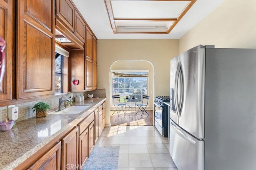
[[62, 170], [70, 168], [68, 165], [78, 165], [78, 127], [62, 139], [61, 155]]

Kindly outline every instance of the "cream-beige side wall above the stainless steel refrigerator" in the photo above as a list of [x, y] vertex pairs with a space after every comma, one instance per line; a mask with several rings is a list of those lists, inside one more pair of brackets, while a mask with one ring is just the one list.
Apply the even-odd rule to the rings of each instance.
[[196, 45], [256, 48], [256, 0], [226, 0], [180, 39], [180, 53]]

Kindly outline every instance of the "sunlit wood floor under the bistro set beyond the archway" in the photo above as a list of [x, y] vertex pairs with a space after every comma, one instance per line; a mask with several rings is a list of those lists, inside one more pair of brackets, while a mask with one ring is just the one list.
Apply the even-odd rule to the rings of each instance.
[[[133, 111], [120, 112], [119, 116], [114, 111], [110, 111], [110, 123], [111, 126], [121, 125], [121, 126], [152, 126], [153, 125], [153, 110], [147, 110], [142, 116], [141, 111], [137, 115]], [[114, 114], [113, 114], [114, 113]]]

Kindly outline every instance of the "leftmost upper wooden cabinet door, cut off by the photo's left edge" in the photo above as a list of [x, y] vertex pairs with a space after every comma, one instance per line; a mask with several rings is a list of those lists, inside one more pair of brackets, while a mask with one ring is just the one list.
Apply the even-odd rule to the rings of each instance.
[[5, 51], [5, 72], [2, 84], [0, 84], [0, 101], [6, 101], [12, 99], [12, 88], [15, 89], [14, 83], [12, 82], [12, 64], [13, 51], [14, 51], [14, 40], [13, 40], [13, 0], [0, 0], [0, 37], [6, 41]]

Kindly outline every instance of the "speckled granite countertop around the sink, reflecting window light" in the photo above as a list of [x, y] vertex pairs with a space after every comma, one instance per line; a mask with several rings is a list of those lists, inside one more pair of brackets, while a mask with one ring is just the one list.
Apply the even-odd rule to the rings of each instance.
[[78, 114], [47, 114], [18, 121], [10, 131], [0, 131], [0, 169], [14, 169], [67, 129], [75, 127], [86, 114], [100, 106], [106, 98], [73, 102], [72, 105], [90, 105]]

